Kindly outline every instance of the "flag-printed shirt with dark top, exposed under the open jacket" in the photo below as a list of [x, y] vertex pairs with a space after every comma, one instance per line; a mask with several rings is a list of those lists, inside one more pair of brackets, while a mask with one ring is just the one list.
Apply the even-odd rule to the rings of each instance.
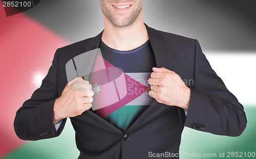
[[[129, 51], [110, 48], [101, 40], [100, 50], [108, 77], [105, 82], [102, 77], [91, 83], [95, 93], [93, 112], [125, 132], [153, 101], [147, 81], [156, 67], [154, 52], [150, 40]], [[112, 95], [108, 96], [106, 91], [110, 90]]]

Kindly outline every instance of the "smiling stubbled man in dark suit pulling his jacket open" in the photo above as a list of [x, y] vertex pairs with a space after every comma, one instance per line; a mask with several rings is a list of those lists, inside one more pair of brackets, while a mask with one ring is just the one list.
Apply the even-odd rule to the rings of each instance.
[[[197, 40], [147, 26], [143, 0], [99, 3], [104, 30], [56, 50], [40, 88], [16, 113], [20, 139], [57, 137], [69, 117], [78, 158], [151, 158], [150, 152], [179, 158], [184, 126], [216, 135], [242, 134], [247, 123], [243, 106], [211, 69]], [[78, 59], [83, 61], [78, 57], [98, 48], [108, 77], [104, 85], [84, 80], [76, 67]], [[69, 80], [69, 62], [80, 77]], [[111, 78], [113, 69], [122, 70], [120, 78]], [[138, 87], [143, 91], [129, 93]], [[109, 90], [115, 94], [104, 93]], [[96, 99], [108, 104], [95, 109]]]

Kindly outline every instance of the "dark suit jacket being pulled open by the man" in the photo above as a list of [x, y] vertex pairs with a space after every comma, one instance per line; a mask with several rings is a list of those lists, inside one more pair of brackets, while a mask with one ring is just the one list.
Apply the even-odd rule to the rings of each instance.
[[[146, 29], [157, 67], [173, 70], [183, 81], [190, 83], [187, 117], [184, 110], [154, 100], [123, 133], [88, 110], [71, 118], [79, 158], [148, 158], [148, 152], [178, 153], [184, 126], [226, 136], [239, 136], [245, 129], [247, 121], [243, 106], [211, 69], [199, 42], [147, 25]], [[75, 56], [98, 48], [101, 36], [102, 32], [94, 38], [56, 50], [40, 88], [16, 113], [14, 129], [20, 139], [41, 140], [60, 135], [66, 119], [56, 131], [53, 105], [68, 83], [65, 65]]]

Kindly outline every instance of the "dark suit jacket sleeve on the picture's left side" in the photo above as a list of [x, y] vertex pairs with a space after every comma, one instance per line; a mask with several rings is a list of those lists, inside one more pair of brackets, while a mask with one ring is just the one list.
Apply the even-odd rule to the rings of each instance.
[[53, 124], [53, 105], [58, 98], [57, 59], [58, 49], [40, 88], [16, 112], [14, 130], [19, 139], [34, 141], [53, 138], [63, 130], [67, 119], [62, 121], [58, 131]]

